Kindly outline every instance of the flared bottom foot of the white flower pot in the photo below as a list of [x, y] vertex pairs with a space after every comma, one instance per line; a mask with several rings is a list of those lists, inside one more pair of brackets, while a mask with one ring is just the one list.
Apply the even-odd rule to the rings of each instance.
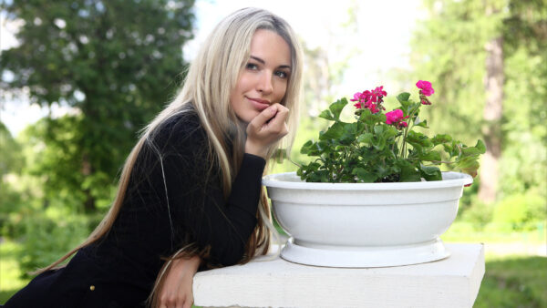
[[449, 257], [442, 241], [420, 242], [412, 245], [345, 247], [306, 247], [290, 238], [281, 257], [289, 262], [325, 267], [389, 267], [438, 261]]

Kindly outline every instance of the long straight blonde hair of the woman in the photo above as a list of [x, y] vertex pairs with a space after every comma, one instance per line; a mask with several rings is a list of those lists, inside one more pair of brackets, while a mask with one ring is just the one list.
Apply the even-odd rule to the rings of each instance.
[[[300, 101], [303, 67], [302, 49], [292, 28], [284, 19], [263, 9], [244, 8], [238, 10], [225, 17], [214, 28], [211, 35], [201, 46], [198, 56], [192, 61], [184, 85], [177, 96], [167, 108], [164, 108], [143, 129], [139, 141], [131, 150], [122, 169], [116, 198], [98, 227], [91, 232], [88, 239], [75, 249], [67, 252], [57, 262], [37, 272], [46, 272], [56, 268], [79, 249], [98, 241], [108, 233], [118, 217], [119, 210], [125, 199], [129, 176], [140, 150], [145, 144], [149, 144], [153, 148], [150, 141], [151, 134], [167, 119], [187, 112], [190, 109], [187, 108], [189, 104], [196, 111], [201, 120], [201, 126], [207, 133], [210, 156], [217, 162], [212, 165], [219, 166], [221, 169], [224, 196], [227, 197], [230, 194], [232, 180], [235, 178], [235, 173], [239, 169], [243, 158], [245, 141], [244, 125], [231, 108], [230, 95], [249, 59], [251, 40], [258, 29], [271, 30], [282, 36], [291, 50], [291, 74], [285, 96], [281, 102], [290, 110], [287, 119], [289, 134], [282, 142], [278, 142], [268, 149], [266, 161], [272, 157], [276, 149], [290, 150], [298, 120], [298, 102]], [[228, 135], [227, 132], [231, 132], [231, 134]], [[232, 148], [229, 148], [227, 141], [232, 143]], [[257, 253], [266, 254], [270, 246], [271, 232], [275, 232], [271, 222], [270, 207], [265, 199], [264, 191], [261, 193], [258, 209], [258, 224], [247, 242], [241, 263], [249, 262]], [[161, 289], [164, 273], [169, 270], [170, 261], [174, 258], [189, 257], [195, 254], [200, 254], [200, 252], [190, 247], [184, 247], [164, 263], [150, 294], [152, 305], [157, 303], [156, 294]]]

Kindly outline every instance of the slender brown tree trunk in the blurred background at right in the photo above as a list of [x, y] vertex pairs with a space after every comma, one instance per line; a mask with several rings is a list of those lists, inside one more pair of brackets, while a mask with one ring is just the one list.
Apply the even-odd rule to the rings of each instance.
[[486, 104], [484, 106], [482, 135], [486, 154], [480, 166], [479, 199], [496, 200], [501, 157], [501, 114], [503, 102], [503, 38], [496, 37], [486, 44]]

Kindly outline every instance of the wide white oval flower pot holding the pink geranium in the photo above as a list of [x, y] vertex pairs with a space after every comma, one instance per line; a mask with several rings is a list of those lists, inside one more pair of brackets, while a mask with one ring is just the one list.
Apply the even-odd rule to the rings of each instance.
[[295, 172], [263, 185], [275, 219], [291, 236], [281, 252], [290, 262], [329, 267], [384, 267], [449, 256], [439, 236], [456, 218], [472, 178], [405, 183], [308, 183]]

